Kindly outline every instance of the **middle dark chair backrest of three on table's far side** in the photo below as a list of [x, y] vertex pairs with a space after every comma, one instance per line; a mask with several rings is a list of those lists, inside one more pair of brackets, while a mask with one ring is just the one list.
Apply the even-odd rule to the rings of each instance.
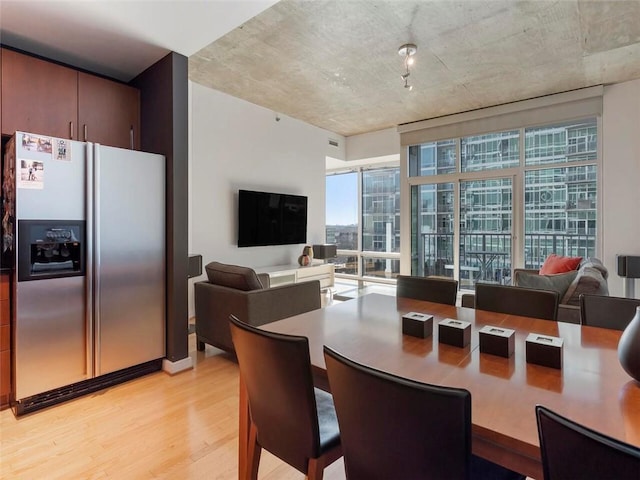
[[479, 310], [556, 320], [559, 300], [558, 292], [551, 290], [476, 284], [475, 303]]

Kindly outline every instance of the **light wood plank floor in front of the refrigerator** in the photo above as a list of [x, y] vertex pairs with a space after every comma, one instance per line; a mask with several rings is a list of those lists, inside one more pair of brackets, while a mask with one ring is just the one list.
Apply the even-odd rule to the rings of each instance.
[[[193, 370], [153, 373], [19, 419], [0, 412], [0, 478], [237, 479], [238, 367], [212, 347], [196, 352], [193, 337]], [[259, 478], [304, 475], [263, 452]], [[325, 478], [345, 478], [342, 460]]]

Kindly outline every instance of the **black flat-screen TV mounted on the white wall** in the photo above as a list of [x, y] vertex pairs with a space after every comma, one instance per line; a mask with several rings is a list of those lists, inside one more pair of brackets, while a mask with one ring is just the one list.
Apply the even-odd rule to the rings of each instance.
[[238, 247], [307, 243], [307, 197], [238, 191]]

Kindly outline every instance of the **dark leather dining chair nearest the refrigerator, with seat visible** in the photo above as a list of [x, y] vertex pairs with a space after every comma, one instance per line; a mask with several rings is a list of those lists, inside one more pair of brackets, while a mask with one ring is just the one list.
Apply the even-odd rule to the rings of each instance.
[[313, 386], [308, 339], [260, 330], [233, 315], [229, 322], [249, 400], [250, 478], [258, 477], [264, 448], [321, 480], [342, 449], [332, 396]]

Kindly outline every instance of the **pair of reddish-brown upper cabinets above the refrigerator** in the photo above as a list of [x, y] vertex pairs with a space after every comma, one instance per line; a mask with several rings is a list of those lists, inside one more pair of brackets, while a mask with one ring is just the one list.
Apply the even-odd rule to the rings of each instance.
[[137, 88], [8, 49], [0, 70], [4, 135], [21, 130], [140, 148]]

